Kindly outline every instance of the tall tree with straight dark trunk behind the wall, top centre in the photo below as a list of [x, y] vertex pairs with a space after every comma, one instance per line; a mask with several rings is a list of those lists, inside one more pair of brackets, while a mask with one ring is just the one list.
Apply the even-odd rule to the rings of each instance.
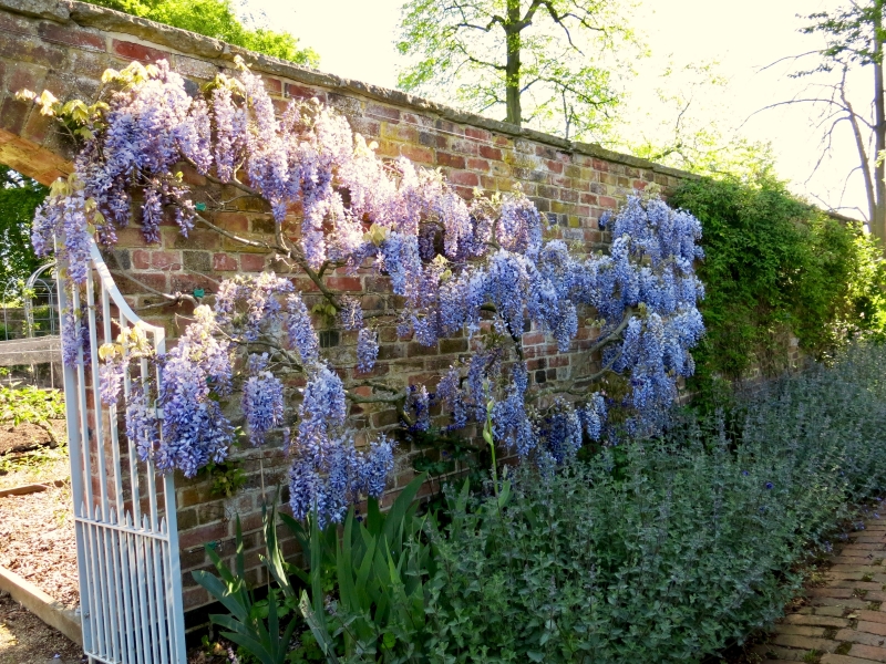
[[409, 0], [398, 77], [505, 121], [569, 138], [605, 124], [619, 102], [617, 46], [633, 43], [619, 0]]

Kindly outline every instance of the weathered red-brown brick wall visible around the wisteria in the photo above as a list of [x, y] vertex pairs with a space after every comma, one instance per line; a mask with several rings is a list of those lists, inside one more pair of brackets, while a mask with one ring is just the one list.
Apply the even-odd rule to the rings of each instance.
[[[166, 59], [175, 71], [202, 83], [218, 72], [229, 72], [237, 53], [264, 75], [279, 108], [293, 97], [317, 97], [343, 113], [356, 132], [375, 139], [381, 156], [405, 156], [421, 166], [439, 167], [465, 198], [472, 196], [474, 187], [508, 191], [519, 184], [556, 225], [556, 234], [569, 240], [605, 241], [597, 222], [605, 210], [615, 209], [629, 193], [651, 183], [667, 193], [688, 177], [596, 145], [563, 141], [399, 92], [256, 56], [215, 40], [102, 8], [54, 0], [0, 0], [0, 163], [45, 184], [70, 170], [70, 145], [32, 106], [14, 100], [17, 90], [49, 89], [62, 100], [91, 100], [106, 68], [120, 69], [133, 59]], [[229, 194], [195, 173], [186, 172], [186, 177], [197, 189], [197, 200]], [[250, 238], [261, 238], [272, 230], [266, 210], [247, 199], [237, 199], [216, 212], [214, 221]], [[212, 293], [218, 279], [265, 269], [287, 271], [271, 256], [208, 230], [195, 230], [184, 238], [169, 225], [163, 228], [162, 240], [155, 246], [146, 246], [135, 226], [119, 235], [117, 248], [109, 255], [119, 287], [136, 310], [151, 308], [144, 310], [145, 319], [164, 325], [171, 336], [181, 332], [181, 317], [190, 312], [190, 305], [157, 307], [162, 300], [151, 289], [190, 293], [203, 288]], [[292, 279], [310, 307], [316, 299], [311, 293], [317, 292], [313, 284], [298, 273]], [[370, 309], [390, 307], [385, 280], [370, 273], [337, 274], [329, 286], [343, 292], [368, 293], [364, 305]], [[381, 330], [381, 341], [380, 362], [372, 375], [401, 384], [433, 385], [460, 354], [470, 352], [464, 338], [447, 339], [427, 349], [398, 339], [393, 328]], [[593, 373], [597, 359], [583, 352], [591, 341], [591, 331], [581, 329], [573, 351], [558, 354], [549, 339], [528, 331], [524, 343], [533, 383]], [[321, 342], [337, 364], [353, 365], [354, 333], [326, 330]], [[346, 377], [350, 371], [343, 370]], [[384, 408], [352, 406], [351, 416], [354, 426], [368, 433], [395, 427], [398, 423], [396, 414]], [[413, 477], [409, 458], [412, 454], [414, 450], [401, 449], [401, 471], [391, 486], [391, 495]], [[277, 483], [285, 480], [287, 463], [279, 440], [276, 446], [240, 452], [237, 456], [248, 483], [234, 498], [212, 497], [208, 480], [177, 483], [186, 609], [207, 601], [190, 580], [189, 571], [207, 569], [204, 544], [208, 542], [214, 542], [223, 556], [233, 552], [237, 515], [246, 532], [250, 574], [255, 581], [264, 580], [258, 561], [261, 538], [256, 529], [260, 526], [261, 504], [272, 495]], [[291, 540], [286, 547], [289, 551], [295, 548]], [[198, 616], [199, 612], [193, 615]]]

